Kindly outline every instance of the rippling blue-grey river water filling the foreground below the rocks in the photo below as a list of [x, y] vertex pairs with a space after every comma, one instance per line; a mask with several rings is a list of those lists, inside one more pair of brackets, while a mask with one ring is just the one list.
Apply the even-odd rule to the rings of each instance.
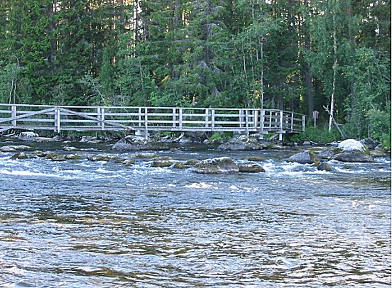
[[319, 172], [290, 153], [227, 153], [268, 159], [238, 175], [2, 153], [0, 287], [390, 287], [390, 158]]

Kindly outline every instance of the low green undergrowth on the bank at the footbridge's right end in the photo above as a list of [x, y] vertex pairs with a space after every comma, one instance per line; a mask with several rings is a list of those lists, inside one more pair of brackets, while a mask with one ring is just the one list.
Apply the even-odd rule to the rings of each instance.
[[293, 142], [302, 142], [305, 140], [312, 141], [315, 143], [330, 143], [335, 140], [340, 140], [339, 132], [332, 129], [328, 131], [327, 127], [306, 127], [305, 132], [291, 136]]

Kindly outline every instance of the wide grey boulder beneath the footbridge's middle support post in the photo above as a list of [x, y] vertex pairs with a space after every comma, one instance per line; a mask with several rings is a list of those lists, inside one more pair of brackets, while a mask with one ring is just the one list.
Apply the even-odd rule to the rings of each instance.
[[129, 135], [122, 138], [112, 147], [114, 150], [168, 150], [168, 146], [143, 136]]

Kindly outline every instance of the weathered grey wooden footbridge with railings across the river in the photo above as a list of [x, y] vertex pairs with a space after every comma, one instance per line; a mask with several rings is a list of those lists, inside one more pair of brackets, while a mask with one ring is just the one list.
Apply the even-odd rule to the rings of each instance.
[[285, 133], [305, 130], [305, 116], [275, 109], [43, 106], [0, 104], [0, 133], [9, 129], [61, 131], [192, 131]]

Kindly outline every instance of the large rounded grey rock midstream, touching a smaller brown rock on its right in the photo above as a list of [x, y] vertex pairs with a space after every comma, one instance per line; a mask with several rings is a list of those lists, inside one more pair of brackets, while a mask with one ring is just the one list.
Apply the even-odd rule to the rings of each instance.
[[195, 165], [195, 172], [203, 174], [238, 173], [239, 167], [229, 157], [202, 160]]

